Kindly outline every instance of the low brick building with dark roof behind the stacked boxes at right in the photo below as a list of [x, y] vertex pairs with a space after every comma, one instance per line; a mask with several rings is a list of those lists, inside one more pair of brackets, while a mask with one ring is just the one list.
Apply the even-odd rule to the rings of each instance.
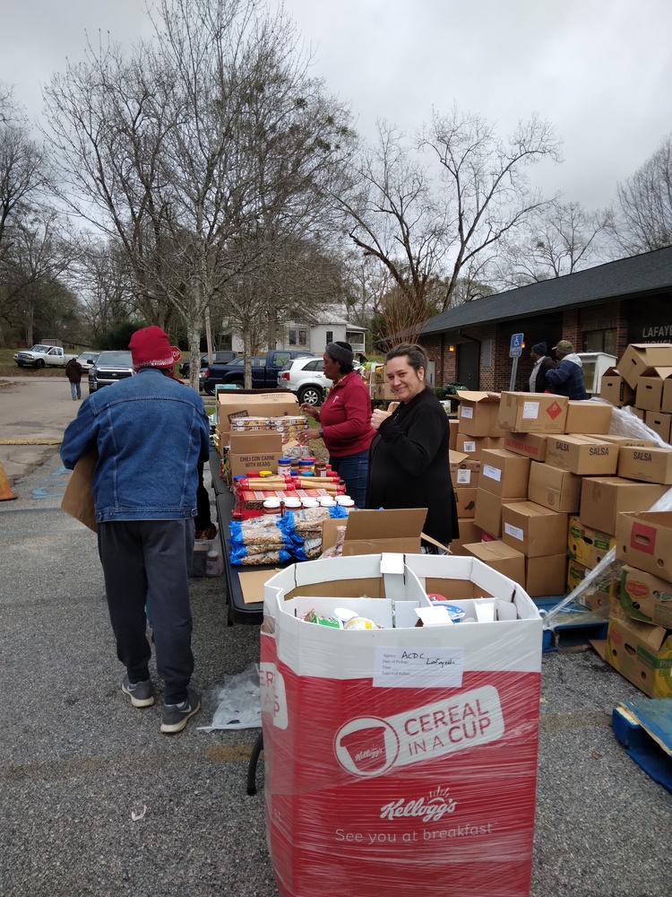
[[568, 339], [576, 352], [620, 357], [628, 343], [672, 343], [672, 247], [621, 258], [542, 283], [465, 302], [429, 320], [419, 342], [435, 384], [508, 389], [513, 334], [524, 335], [517, 389], [526, 389], [530, 348]]

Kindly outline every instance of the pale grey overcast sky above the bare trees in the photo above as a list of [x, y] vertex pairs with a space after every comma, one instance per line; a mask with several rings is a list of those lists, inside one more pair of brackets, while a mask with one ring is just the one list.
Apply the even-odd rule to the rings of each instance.
[[[409, 133], [457, 102], [502, 135], [537, 112], [564, 139], [538, 166], [548, 195], [592, 209], [672, 132], [672, 0], [285, 0], [313, 73], [349, 102], [360, 134]], [[149, 35], [142, 0], [2, 0], [0, 81], [31, 118], [40, 85], [109, 31]]]

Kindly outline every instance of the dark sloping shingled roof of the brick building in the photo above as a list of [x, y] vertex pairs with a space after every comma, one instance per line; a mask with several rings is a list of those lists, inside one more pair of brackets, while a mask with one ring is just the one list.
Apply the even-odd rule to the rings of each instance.
[[585, 271], [530, 283], [516, 290], [464, 302], [427, 321], [423, 334], [521, 318], [544, 311], [606, 302], [672, 288], [672, 246], [619, 258]]

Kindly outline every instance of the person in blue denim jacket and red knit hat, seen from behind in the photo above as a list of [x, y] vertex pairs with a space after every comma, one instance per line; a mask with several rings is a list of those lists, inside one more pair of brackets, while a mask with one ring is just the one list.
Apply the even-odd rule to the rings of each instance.
[[92, 393], [68, 424], [61, 459], [72, 469], [98, 452], [93, 499], [100, 562], [122, 692], [150, 707], [151, 646], [145, 601], [151, 593], [156, 662], [166, 689], [161, 731], [181, 731], [201, 706], [194, 672], [189, 571], [194, 553], [198, 464], [210, 452], [202, 398], [172, 378], [168, 335], [144, 327], [131, 337], [135, 376]]

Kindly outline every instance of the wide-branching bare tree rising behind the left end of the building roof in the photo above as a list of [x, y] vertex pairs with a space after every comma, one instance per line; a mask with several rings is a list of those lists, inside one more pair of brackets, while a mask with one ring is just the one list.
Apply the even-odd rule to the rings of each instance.
[[[414, 150], [428, 152], [434, 169]], [[536, 117], [503, 140], [485, 119], [455, 106], [448, 115], [435, 112], [412, 147], [382, 124], [360, 167], [363, 190], [342, 203], [350, 237], [388, 268], [413, 316], [426, 319], [432, 277], [445, 279], [445, 310], [463, 269], [547, 204], [525, 173], [545, 157], [559, 160], [559, 142]]]

